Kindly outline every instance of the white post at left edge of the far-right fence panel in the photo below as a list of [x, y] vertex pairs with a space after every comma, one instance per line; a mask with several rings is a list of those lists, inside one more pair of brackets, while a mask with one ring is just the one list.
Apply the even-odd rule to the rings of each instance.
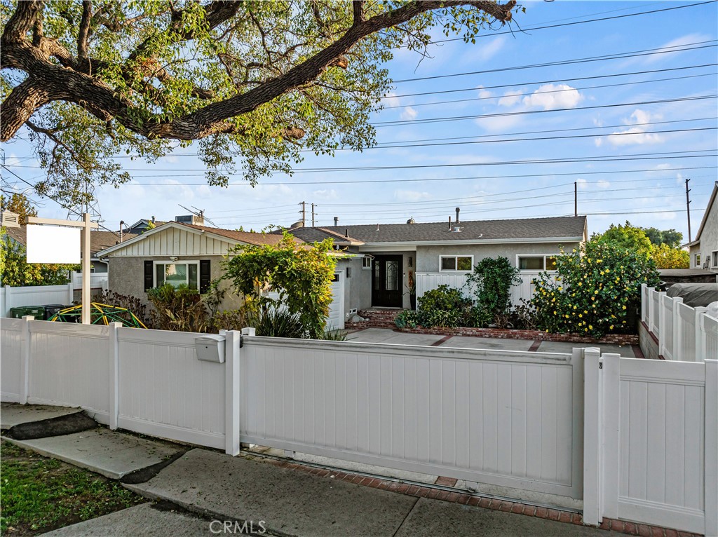
[[619, 354], [602, 355], [603, 416], [601, 431], [603, 463], [603, 514], [618, 518], [618, 456], [620, 453], [620, 359]]

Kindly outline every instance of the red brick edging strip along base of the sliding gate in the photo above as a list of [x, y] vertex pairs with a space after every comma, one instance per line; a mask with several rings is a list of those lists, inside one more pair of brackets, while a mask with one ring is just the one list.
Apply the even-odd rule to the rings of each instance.
[[[256, 455], [261, 457], [261, 454], [259, 453]], [[395, 480], [383, 480], [378, 477], [358, 475], [351, 472], [344, 472], [342, 470], [327, 470], [325, 468], [307, 466], [297, 462], [282, 462], [276, 459], [264, 459], [264, 461], [289, 470], [301, 470], [302, 472], [307, 472], [309, 475], [316, 475], [317, 477], [330, 477], [331, 479], [342, 480], [354, 483], [355, 485], [362, 485], [364, 487], [378, 488], [380, 490], [398, 492], [399, 494], [416, 496], [418, 498], [442, 500], [446, 502], [458, 503], [460, 505], [472, 505], [484, 509], [504, 511], [505, 513], [515, 513], [518, 515], [533, 516], [536, 518], [556, 520], [556, 522], [572, 523], [577, 526], [583, 526], [583, 516], [581, 514], [560, 509], [536, 507], [536, 505], [528, 505], [528, 503], [511, 502], [507, 500], [499, 500], [498, 498], [485, 498], [483, 496], [462, 492], [458, 489], [456, 492], [452, 492], [434, 487], [421, 487], [420, 485], [410, 485], [409, 483]], [[442, 477], [439, 477], [437, 482], [440, 480], [442, 480]], [[626, 522], [625, 520], [617, 520], [615, 518], [604, 518], [603, 522], [598, 527], [602, 530], [611, 530], [617, 533], [625, 533], [626, 535], [637, 535], [641, 537], [701, 537], [700, 533], [677, 531], [671, 528]]]

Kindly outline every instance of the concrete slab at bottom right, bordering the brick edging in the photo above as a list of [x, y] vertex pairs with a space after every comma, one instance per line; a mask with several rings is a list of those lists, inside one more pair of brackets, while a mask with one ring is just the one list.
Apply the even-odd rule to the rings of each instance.
[[396, 537], [466, 535], [481, 537], [619, 537], [598, 528], [420, 498]]

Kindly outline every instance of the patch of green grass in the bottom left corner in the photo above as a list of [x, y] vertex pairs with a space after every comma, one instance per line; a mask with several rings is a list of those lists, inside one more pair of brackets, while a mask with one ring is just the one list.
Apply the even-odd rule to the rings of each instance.
[[0, 444], [0, 533], [32, 536], [147, 500], [118, 482]]

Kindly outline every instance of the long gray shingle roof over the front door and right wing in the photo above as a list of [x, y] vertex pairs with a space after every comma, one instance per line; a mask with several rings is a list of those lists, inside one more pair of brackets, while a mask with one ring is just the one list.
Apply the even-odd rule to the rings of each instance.
[[[452, 230], [457, 224], [452, 223]], [[452, 243], [581, 241], [586, 237], [586, 217], [520, 218], [516, 220], [470, 220], [449, 230], [447, 222], [414, 224], [339, 225], [325, 228], [294, 228], [290, 233], [303, 240], [312, 235], [334, 236], [352, 243]], [[322, 234], [324, 236], [322, 236]]]

